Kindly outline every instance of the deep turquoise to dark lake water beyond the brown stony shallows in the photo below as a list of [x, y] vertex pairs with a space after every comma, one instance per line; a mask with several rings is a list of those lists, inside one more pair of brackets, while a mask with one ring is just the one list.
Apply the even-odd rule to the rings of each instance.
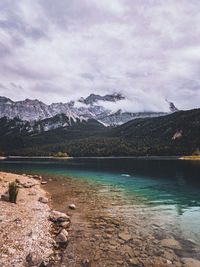
[[[178, 225], [200, 244], [200, 161], [168, 158], [9, 159], [1, 171], [71, 176], [138, 197], [154, 216]], [[101, 192], [99, 192], [101, 194]], [[102, 192], [103, 194], [103, 192]], [[138, 205], [140, 201], [138, 201]]]

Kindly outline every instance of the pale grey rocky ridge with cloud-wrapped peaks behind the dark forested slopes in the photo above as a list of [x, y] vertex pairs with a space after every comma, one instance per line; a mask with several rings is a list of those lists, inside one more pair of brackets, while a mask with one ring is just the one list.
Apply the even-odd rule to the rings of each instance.
[[[87, 98], [82, 97], [76, 102], [70, 101], [67, 103], [52, 103], [47, 105], [37, 99], [25, 99], [24, 101], [15, 102], [9, 98], [0, 97], [0, 118], [19, 118], [22, 121], [30, 122], [32, 127], [35, 127], [34, 125], [38, 125], [38, 121], [54, 118], [59, 114], [64, 114], [68, 118], [67, 123], [70, 121], [76, 122], [95, 119], [105, 126], [116, 126], [136, 118], [158, 117], [167, 114], [163, 112], [133, 113], [123, 112], [122, 110], [114, 112], [103, 107], [102, 104], [99, 104], [99, 101], [101, 101], [101, 103], [102, 101], [118, 102], [124, 99], [125, 97], [118, 93], [105, 96], [91, 94]], [[178, 109], [176, 109], [174, 104], [169, 102], [169, 112], [177, 110]], [[58, 123], [58, 127], [61, 127], [60, 125], [63, 123], [63, 117], [60, 118], [61, 122]], [[51, 124], [51, 122], [48, 121], [48, 124]], [[52, 127], [54, 126], [52, 125]], [[52, 129], [52, 127], [46, 127], [46, 130]]]

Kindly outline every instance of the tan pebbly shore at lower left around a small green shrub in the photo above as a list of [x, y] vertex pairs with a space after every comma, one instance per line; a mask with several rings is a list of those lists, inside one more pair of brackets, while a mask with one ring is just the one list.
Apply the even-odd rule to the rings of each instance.
[[[17, 203], [0, 200], [0, 266], [39, 266], [47, 263], [55, 243], [49, 221], [50, 208], [39, 201], [47, 194], [40, 181], [28, 176], [0, 172], [0, 195], [18, 179]], [[44, 201], [45, 202], [45, 201]]]

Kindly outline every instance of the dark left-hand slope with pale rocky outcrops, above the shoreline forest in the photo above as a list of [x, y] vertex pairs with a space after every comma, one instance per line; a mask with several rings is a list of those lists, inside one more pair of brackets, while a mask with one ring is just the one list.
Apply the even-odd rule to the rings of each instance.
[[98, 121], [69, 120], [64, 114], [39, 122], [3, 117], [0, 119], [0, 150], [10, 151], [16, 148], [23, 149], [88, 136], [100, 136], [106, 131], [107, 128]]

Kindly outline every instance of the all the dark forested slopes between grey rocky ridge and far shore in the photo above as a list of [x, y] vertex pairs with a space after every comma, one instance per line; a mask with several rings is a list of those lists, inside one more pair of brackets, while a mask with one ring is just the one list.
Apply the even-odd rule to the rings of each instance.
[[[20, 130], [19, 120], [16, 134], [12, 133], [8, 126], [2, 127], [5, 120], [0, 120], [0, 149], [9, 154], [51, 155], [62, 151], [71, 156], [174, 156], [190, 155], [200, 148], [200, 109], [135, 119], [114, 128], [88, 120], [37, 133], [24, 132], [27, 125]], [[8, 122], [9, 127], [13, 123]]]

